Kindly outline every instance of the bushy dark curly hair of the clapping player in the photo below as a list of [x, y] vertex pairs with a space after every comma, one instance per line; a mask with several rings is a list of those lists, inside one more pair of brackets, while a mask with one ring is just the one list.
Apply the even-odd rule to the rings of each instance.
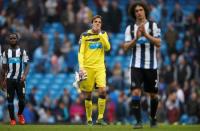
[[143, 7], [144, 9], [144, 12], [145, 12], [145, 16], [146, 18], [148, 19], [149, 18], [149, 8], [148, 6], [144, 3], [144, 2], [140, 2], [140, 1], [137, 1], [135, 2], [133, 5], [130, 6], [128, 12], [129, 12], [129, 15], [134, 19], [136, 20], [136, 16], [135, 16], [135, 8], [136, 6], [141, 6]]

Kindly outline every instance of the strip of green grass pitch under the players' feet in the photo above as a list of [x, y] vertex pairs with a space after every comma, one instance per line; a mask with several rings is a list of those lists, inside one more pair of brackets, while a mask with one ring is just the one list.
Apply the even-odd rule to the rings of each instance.
[[145, 125], [143, 129], [133, 129], [130, 125], [0, 125], [0, 131], [200, 131], [200, 125], [159, 125], [150, 128]]

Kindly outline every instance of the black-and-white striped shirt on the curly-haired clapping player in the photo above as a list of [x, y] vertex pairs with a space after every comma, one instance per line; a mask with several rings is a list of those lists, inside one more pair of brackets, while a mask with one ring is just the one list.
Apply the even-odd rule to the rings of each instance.
[[[146, 32], [150, 32], [150, 22], [146, 22], [144, 27]], [[136, 36], [138, 25], [134, 25], [134, 30], [131, 30], [131, 25], [127, 26], [125, 31], [125, 42], [129, 42], [133, 39], [131, 32]], [[160, 28], [156, 23], [152, 24], [152, 34], [156, 38], [160, 38]], [[142, 69], [157, 69], [156, 58], [156, 46], [151, 44], [150, 41], [144, 36], [140, 37], [136, 45], [133, 47], [131, 56], [130, 67], [142, 68]]]

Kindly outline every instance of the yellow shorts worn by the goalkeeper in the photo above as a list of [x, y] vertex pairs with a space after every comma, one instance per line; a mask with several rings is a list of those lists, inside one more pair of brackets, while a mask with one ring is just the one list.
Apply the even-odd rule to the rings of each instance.
[[87, 72], [87, 79], [80, 82], [81, 91], [91, 92], [96, 87], [105, 88], [106, 87], [106, 70], [85, 68]]

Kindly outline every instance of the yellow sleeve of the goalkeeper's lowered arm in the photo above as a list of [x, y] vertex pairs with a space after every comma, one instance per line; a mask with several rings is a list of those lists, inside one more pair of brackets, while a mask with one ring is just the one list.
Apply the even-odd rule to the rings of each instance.
[[79, 69], [84, 69], [84, 52], [85, 52], [85, 40], [84, 36], [81, 36], [79, 41], [78, 63]]

